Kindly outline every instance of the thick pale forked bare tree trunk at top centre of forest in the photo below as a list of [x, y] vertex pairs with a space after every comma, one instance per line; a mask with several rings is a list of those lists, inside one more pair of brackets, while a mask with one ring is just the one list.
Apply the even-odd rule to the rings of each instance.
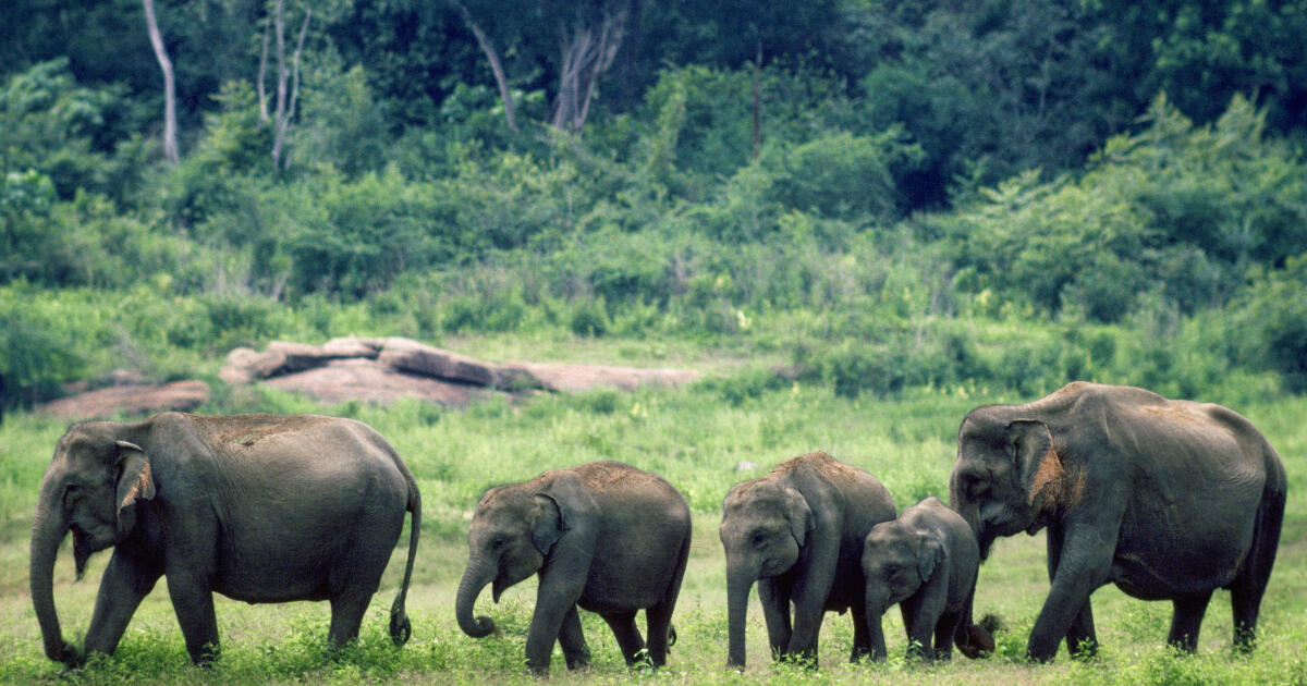
[[[554, 128], [576, 132], [586, 125], [599, 77], [613, 65], [613, 59], [622, 47], [629, 18], [630, 3], [625, 3], [617, 12], [604, 10], [597, 33], [583, 25], [571, 31], [559, 20], [558, 48], [562, 63], [558, 69], [558, 97], [550, 120]], [[578, 18], [578, 22], [583, 21]]]

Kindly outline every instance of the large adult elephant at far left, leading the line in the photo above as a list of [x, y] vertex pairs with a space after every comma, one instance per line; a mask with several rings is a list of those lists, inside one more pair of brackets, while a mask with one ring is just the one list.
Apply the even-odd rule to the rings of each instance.
[[[86, 422], [55, 448], [31, 527], [31, 600], [46, 656], [80, 665], [112, 655], [159, 576], [196, 664], [218, 653], [213, 593], [247, 602], [329, 600], [332, 645], [358, 636], [363, 612], [413, 514], [391, 638], [408, 640], [404, 597], [421, 500], [399, 455], [353, 419], [163, 413]], [[52, 591], [72, 532], [77, 576], [114, 549], [82, 648], [64, 642]]]

